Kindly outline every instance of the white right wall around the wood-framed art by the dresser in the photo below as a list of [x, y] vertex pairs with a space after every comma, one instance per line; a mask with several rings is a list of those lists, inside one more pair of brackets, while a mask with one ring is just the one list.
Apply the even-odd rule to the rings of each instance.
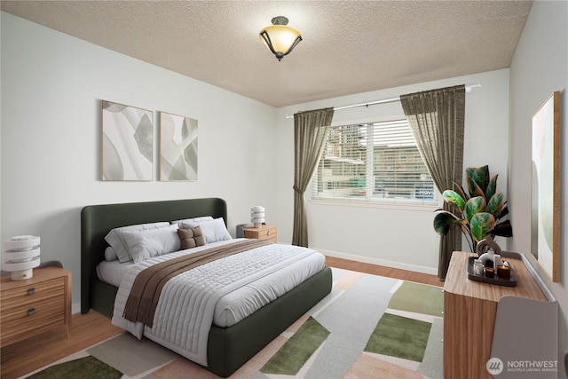
[[[568, 3], [540, 2], [531, 13], [510, 67], [509, 209], [515, 227], [511, 249], [531, 254], [531, 130], [533, 114], [553, 91], [561, 91], [560, 282], [534, 264], [560, 305], [559, 371], [568, 352]], [[565, 377], [560, 374], [559, 377]]]

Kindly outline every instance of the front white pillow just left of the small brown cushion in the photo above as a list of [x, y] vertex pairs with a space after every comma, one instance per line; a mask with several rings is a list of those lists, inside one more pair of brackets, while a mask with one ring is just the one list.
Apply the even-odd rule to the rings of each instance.
[[181, 248], [181, 241], [179, 241], [177, 236], [177, 225], [124, 232], [122, 239], [128, 247], [135, 264]]

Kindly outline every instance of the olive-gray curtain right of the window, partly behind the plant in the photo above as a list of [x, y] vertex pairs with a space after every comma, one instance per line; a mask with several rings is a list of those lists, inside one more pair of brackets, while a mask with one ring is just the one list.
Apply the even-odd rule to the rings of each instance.
[[[465, 85], [410, 93], [400, 97], [414, 139], [440, 193], [461, 186]], [[444, 209], [452, 210], [444, 202]], [[440, 237], [438, 278], [446, 279], [454, 250], [461, 250], [458, 225]]]

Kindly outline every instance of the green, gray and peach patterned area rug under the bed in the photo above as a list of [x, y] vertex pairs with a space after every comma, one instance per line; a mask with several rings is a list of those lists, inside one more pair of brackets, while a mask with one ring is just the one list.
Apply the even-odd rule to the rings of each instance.
[[[442, 378], [442, 288], [333, 269], [334, 287], [231, 378]], [[216, 378], [123, 333], [24, 376]]]

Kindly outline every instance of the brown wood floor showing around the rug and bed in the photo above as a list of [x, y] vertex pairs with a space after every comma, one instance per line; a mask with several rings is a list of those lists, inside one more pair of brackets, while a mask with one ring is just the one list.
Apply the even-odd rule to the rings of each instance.
[[[331, 267], [345, 270], [367, 272], [434, 286], [444, 284], [435, 275], [421, 272], [369, 265], [336, 257], [327, 257], [326, 263]], [[0, 333], [2, 333], [1, 330]], [[119, 333], [122, 333], [122, 329], [115, 327], [109, 319], [98, 312], [76, 313], [72, 317], [69, 338], [67, 338], [65, 328], [62, 327], [19, 343], [4, 346], [0, 350], [0, 377], [3, 379], [18, 378]]]

